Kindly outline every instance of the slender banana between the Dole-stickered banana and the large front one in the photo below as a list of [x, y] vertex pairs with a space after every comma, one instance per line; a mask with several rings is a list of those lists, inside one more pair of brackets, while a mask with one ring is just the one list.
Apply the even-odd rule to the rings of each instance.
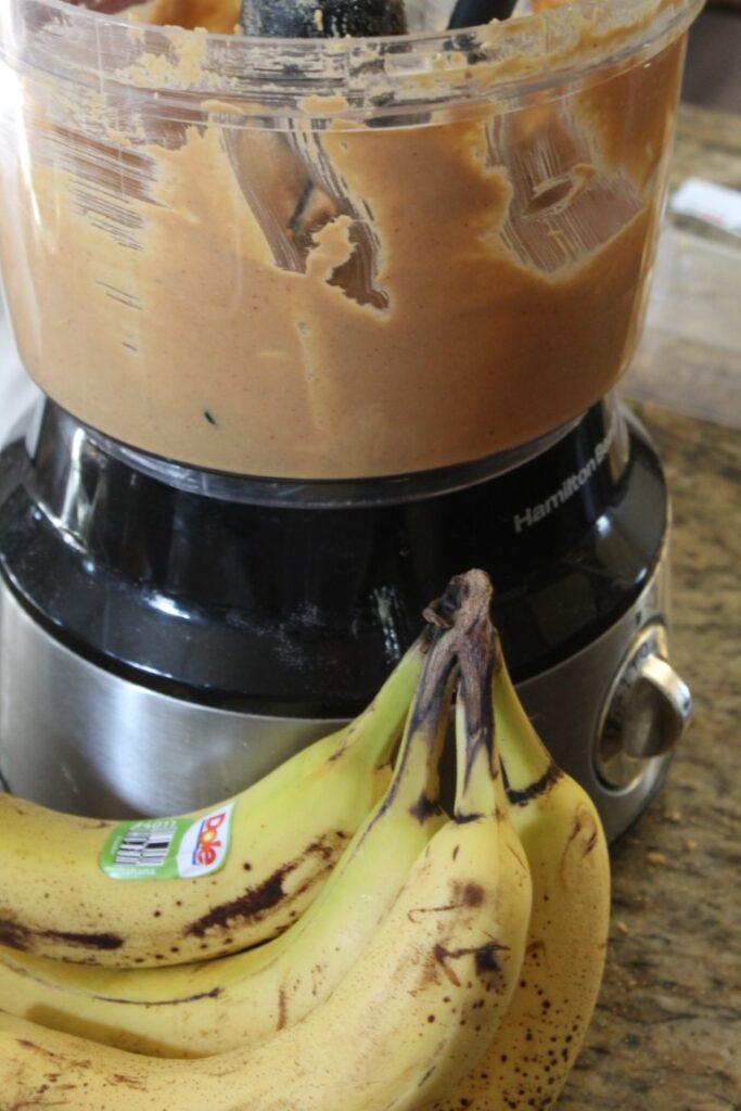
[[[452, 679], [451, 679], [452, 681]], [[410, 715], [387, 793], [319, 895], [284, 933], [200, 964], [100, 969], [0, 947], [0, 1000], [13, 1014], [154, 1057], [207, 1057], [293, 1025], [329, 995], [445, 821], [440, 689]]]

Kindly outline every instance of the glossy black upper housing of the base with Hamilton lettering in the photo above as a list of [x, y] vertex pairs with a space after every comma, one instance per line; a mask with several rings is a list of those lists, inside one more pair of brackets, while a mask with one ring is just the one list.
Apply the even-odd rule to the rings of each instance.
[[667, 521], [655, 452], [610, 401], [491, 478], [186, 471], [52, 402], [36, 447], [0, 460], [0, 568], [31, 617], [139, 684], [251, 713], [356, 714], [471, 567], [492, 579], [514, 680], [539, 674], [627, 612]]

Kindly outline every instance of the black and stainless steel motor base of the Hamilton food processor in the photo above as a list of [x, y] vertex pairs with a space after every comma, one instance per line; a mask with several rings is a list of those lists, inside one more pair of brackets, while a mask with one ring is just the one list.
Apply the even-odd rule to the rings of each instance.
[[669, 508], [612, 402], [512, 472], [353, 509], [179, 490], [66, 421], [0, 457], [8, 790], [101, 818], [220, 801], [359, 712], [478, 565], [525, 709], [608, 835], [655, 792], [690, 710], [668, 663]]

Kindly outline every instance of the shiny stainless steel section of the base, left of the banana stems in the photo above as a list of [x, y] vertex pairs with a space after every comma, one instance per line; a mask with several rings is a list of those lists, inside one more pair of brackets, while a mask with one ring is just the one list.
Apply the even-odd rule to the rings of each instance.
[[227, 798], [327, 731], [106, 671], [37, 624], [0, 574], [0, 773], [14, 794], [97, 818], [180, 813]]

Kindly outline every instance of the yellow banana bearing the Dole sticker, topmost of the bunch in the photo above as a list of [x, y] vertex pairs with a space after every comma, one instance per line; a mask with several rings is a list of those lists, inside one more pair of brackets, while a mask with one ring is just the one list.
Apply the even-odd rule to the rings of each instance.
[[[0, 943], [131, 968], [203, 961], [280, 933], [316, 897], [388, 787], [388, 761], [425, 652], [420, 639], [353, 722], [231, 800], [232, 843], [219, 871], [112, 879], [99, 858], [117, 823], [0, 794]], [[189, 817], [214, 813], [228, 813], [228, 804]], [[200, 827], [207, 838], [208, 825]]]

